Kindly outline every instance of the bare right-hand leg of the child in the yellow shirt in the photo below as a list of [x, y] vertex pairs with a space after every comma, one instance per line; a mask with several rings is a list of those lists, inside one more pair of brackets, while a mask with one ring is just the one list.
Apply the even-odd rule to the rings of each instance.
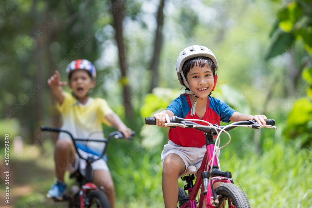
[[110, 207], [115, 207], [115, 186], [109, 171], [94, 170], [93, 182], [96, 186], [104, 186], [104, 193], [106, 194]]

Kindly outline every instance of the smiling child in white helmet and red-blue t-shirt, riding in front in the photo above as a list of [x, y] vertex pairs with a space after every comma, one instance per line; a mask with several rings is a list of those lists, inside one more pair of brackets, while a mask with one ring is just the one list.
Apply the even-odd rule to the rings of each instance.
[[[217, 82], [217, 68], [217, 59], [207, 47], [194, 45], [185, 48], [179, 54], [176, 63], [178, 79], [181, 85], [186, 87], [185, 94], [173, 100], [166, 110], [154, 114], [156, 125], [164, 127], [165, 123], [170, 123], [169, 117], [178, 116], [183, 119], [201, 119], [218, 125], [220, 121], [254, 119], [266, 126], [265, 115], [241, 114], [225, 102], [211, 96]], [[193, 128], [177, 127], [170, 128], [168, 136], [168, 144], [161, 153], [163, 199], [166, 208], [176, 208], [178, 178], [183, 176], [189, 166], [199, 169], [206, 152], [205, 135]], [[213, 188], [221, 183], [214, 183]]]

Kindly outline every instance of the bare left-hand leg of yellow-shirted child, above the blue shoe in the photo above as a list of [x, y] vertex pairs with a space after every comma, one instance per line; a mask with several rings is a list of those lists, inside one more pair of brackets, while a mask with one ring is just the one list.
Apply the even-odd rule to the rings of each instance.
[[65, 169], [68, 164], [75, 164], [75, 147], [70, 138], [56, 141], [54, 150], [56, 178], [64, 182]]

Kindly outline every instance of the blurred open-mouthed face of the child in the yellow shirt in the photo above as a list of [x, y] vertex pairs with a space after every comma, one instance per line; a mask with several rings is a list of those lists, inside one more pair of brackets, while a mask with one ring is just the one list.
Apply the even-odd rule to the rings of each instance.
[[88, 95], [89, 89], [94, 87], [94, 80], [92, 81], [86, 70], [77, 69], [71, 74], [69, 86], [78, 99], [84, 100]]

